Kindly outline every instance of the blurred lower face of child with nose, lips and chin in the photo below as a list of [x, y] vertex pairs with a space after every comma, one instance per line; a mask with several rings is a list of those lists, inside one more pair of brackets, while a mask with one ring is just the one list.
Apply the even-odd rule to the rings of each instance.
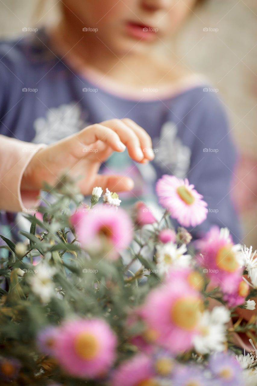
[[112, 52], [125, 54], [172, 35], [195, 3], [196, 0], [63, 0], [63, 14], [71, 28], [88, 28], [87, 39], [98, 44], [100, 39]]

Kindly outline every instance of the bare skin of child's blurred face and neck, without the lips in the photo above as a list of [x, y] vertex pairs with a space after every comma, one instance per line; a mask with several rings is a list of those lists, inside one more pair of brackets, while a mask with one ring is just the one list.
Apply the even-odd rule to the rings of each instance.
[[[184, 76], [182, 66], [158, 59], [155, 49], [192, 13], [196, 0], [63, 0], [60, 24], [52, 30], [56, 48], [76, 55], [85, 66], [108, 74], [126, 85], [173, 83]], [[158, 28], [153, 40], [130, 36], [128, 22]], [[97, 28], [84, 32], [83, 27]], [[103, 60], [104, 58], [104, 60]], [[124, 76], [125, 74], [125, 76]]]

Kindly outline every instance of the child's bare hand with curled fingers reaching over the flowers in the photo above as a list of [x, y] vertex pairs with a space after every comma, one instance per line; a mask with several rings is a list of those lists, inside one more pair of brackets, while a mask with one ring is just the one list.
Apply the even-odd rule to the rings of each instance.
[[43, 183], [55, 185], [64, 173], [78, 181], [84, 195], [91, 194], [94, 186], [103, 190], [130, 190], [134, 186], [131, 178], [98, 174], [102, 162], [113, 151], [128, 154], [139, 163], [154, 158], [152, 141], [142, 127], [130, 119], [112, 119], [86, 127], [80, 132], [39, 150], [31, 159], [22, 177], [21, 190], [38, 190]]

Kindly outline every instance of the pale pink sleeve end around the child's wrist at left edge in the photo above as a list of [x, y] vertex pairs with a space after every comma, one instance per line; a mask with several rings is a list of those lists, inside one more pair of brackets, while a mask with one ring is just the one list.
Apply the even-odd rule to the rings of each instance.
[[20, 191], [23, 173], [34, 154], [45, 147], [0, 135], [0, 210], [21, 212], [38, 202], [38, 191]]

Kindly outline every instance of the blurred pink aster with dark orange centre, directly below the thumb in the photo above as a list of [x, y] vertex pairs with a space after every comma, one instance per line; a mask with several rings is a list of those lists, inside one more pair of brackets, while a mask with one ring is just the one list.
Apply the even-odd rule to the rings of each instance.
[[132, 221], [122, 208], [81, 208], [71, 217], [71, 223], [83, 248], [96, 253], [107, 251], [111, 259], [118, 258], [117, 251], [127, 248], [133, 236]]

